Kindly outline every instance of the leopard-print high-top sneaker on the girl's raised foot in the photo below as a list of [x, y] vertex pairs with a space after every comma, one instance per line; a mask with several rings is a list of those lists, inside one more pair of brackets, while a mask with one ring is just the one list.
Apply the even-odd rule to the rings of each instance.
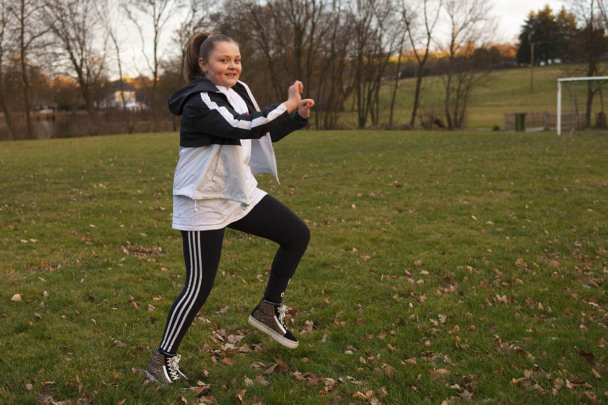
[[269, 304], [262, 300], [249, 316], [249, 324], [269, 335], [289, 349], [298, 347], [298, 340], [285, 326], [285, 305]]

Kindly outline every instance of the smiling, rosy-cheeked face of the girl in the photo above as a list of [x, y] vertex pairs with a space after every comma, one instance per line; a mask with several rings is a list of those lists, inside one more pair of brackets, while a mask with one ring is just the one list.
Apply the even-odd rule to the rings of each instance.
[[201, 58], [198, 64], [205, 77], [218, 86], [232, 87], [241, 75], [241, 54], [233, 42], [216, 43], [209, 61]]

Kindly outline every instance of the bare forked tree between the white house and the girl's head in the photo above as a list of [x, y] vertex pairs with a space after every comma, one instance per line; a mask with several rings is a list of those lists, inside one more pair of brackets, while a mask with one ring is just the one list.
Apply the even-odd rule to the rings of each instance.
[[[125, 11], [128, 18], [137, 27], [142, 46], [142, 55], [146, 61], [148, 70], [151, 74], [152, 84], [150, 86], [150, 107], [154, 131], [157, 131], [157, 100], [156, 89], [159, 80], [160, 67], [162, 62], [161, 35], [167, 22], [174, 18], [182, 7], [181, 0], [133, 0], [125, 4]], [[142, 17], [145, 22], [142, 22]], [[150, 50], [146, 49], [145, 30], [153, 30], [153, 40], [151, 55]], [[142, 80], [142, 83], [145, 81]]]

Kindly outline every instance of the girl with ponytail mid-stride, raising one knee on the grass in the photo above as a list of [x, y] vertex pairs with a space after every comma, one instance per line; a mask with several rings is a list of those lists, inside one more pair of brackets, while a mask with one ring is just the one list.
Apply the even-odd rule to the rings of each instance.
[[305, 126], [314, 101], [302, 100], [302, 83], [295, 81], [287, 101], [260, 111], [240, 74], [238, 44], [226, 35], [201, 33], [187, 45], [187, 84], [169, 97], [170, 111], [182, 116], [173, 228], [182, 233], [186, 280], [146, 368], [148, 379], [160, 384], [187, 379], [179, 371], [178, 347], [209, 296], [226, 227], [278, 243], [266, 291], [249, 324], [286, 347], [298, 345], [283, 322], [282, 299], [310, 231], [257, 187], [254, 174], [270, 173], [278, 182], [272, 142]]

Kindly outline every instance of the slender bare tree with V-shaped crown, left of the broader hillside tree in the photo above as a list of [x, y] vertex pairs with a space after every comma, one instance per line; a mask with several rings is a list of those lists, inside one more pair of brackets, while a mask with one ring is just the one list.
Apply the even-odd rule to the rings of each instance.
[[410, 117], [411, 128], [416, 123], [424, 66], [430, 55], [430, 43], [435, 26], [437, 26], [437, 21], [439, 21], [442, 3], [442, 0], [418, 0], [414, 3], [401, 0], [402, 21], [406, 24], [407, 36], [418, 62], [412, 116]]

